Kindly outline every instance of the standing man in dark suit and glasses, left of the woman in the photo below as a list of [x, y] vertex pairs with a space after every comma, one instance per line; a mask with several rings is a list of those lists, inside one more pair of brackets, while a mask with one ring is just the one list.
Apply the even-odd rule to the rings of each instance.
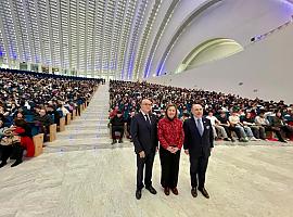
[[143, 188], [143, 168], [145, 165], [144, 184], [152, 194], [156, 190], [152, 187], [152, 170], [155, 152], [157, 151], [157, 122], [156, 116], [151, 114], [152, 102], [142, 100], [140, 112], [132, 117], [130, 133], [137, 154], [137, 200], [141, 199]]

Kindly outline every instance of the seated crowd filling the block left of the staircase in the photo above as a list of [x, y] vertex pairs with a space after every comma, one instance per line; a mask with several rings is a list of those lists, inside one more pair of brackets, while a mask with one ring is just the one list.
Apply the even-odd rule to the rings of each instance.
[[8, 158], [13, 166], [23, 162], [23, 153], [35, 154], [33, 137], [60, 125], [60, 118], [74, 110], [80, 114], [103, 79], [76, 78], [52, 74], [0, 69], [0, 168]]

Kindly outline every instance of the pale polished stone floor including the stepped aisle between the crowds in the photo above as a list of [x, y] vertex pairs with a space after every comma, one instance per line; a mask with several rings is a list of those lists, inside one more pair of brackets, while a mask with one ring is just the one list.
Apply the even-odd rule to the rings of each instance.
[[207, 171], [209, 200], [191, 196], [183, 153], [179, 195], [166, 196], [156, 155], [153, 186], [158, 193], [143, 190], [137, 201], [132, 144], [110, 144], [106, 99], [107, 86], [102, 86], [82, 116], [58, 133], [42, 155], [0, 169], [0, 217], [293, 216], [293, 143], [217, 142]]

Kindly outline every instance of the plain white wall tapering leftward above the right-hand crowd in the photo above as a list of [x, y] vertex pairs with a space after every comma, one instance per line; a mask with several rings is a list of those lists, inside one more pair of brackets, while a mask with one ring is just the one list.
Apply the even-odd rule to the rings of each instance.
[[148, 81], [293, 103], [293, 24], [230, 58]]

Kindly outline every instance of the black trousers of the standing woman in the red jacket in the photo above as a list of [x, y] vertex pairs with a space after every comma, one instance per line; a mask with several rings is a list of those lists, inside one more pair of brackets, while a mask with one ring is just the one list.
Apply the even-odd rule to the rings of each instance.
[[160, 148], [161, 184], [163, 188], [175, 189], [178, 183], [180, 150], [176, 154]]

